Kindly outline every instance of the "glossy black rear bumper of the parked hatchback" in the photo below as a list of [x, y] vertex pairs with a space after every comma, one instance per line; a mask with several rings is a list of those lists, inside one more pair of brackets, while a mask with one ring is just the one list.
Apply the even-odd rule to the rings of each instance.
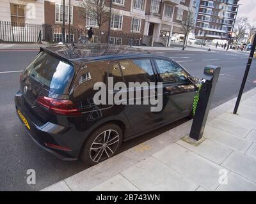
[[[42, 149], [46, 150], [47, 152], [54, 154], [54, 156], [60, 158], [63, 161], [77, 160], [79, 151], [77, 151], [76, 148], [75, 150], [73, 150], [72, 147], [68, 147], [68, 141], [65, 141], [65, 139], [67, 140], [67, 138], [69, 138], [68, 135], [70, 134], [70, 130], [68, 130], [68, 128], [60, 126], [58, 124], [52, 124], [51, 122], [40, 124], [40, 122], [38, 122], [38, 119], [36, 119], [35, 115], [33, 115], [33, 113], [28, 110], [26, 105], [24, 105], [24, 98], [20, 92], [17, 92], [17, 94], [15, 94], [14, 100], [17, 116], [19, 117], [20, 122], [22, 122], [22, 124], [26, 128], [26, 131], [29, 133], [32, 140], [37, 145], [42, 147]], [[18, 111], [20, 111], [20, 113], [22, 113], [24, 118], [28, 121], [29, 128], [21, 119]], [[47, 147], [47, 143], [58, 145], [61, 147], [68, 147], [70, 148], [70, 150], [60, 150]]]

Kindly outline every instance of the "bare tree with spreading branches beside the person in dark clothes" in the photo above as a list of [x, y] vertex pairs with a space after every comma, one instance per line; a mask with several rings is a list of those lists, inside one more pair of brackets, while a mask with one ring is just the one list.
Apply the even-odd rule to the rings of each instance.
[[88, 17], [95, 20], [100, 32], [102, 25], [111, 19], [111, 11], [109, 10], [108, 3], [109, 1], [107, 0], [80, 0], [78, 13], [84, 20]]

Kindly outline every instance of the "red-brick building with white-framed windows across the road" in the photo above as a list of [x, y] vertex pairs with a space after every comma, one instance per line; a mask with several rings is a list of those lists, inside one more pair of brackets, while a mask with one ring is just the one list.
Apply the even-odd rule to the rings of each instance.
[[[154, 41], [170, 45], [173, 36], [182, 36], [181, 23], [193, 6], [193, 0], [108, 0], [112, 1], [111, 31], [137, 36], [154, 36]], [[66, 15], [68, 1], [66, 0]], [[109, 3], [108, 3], [109, 5]], [[45, 24], [61, 25], [61, 0], [45, 0]], [[71, 0], [71, 26], [97, 30], [97, 22], [90, 17], [81, 18], [77, 13], [79, 1]], [[132, 20], [133, 19], [133, 20]], [[133, 22], [133, 29], [132, 29]], [[68, 17], [67, 22], [68, 24]], [[109, 22], [102, 25], [102, 31], [108, 31]], [[57, 34], [58, 35], [58, 34]], [[56, 35], [55, 35], [56, 36]], [[95, 36], [97, 37], [97, 36]], [[120, 38], [110, 37], [109, 41], [121, 43]]]

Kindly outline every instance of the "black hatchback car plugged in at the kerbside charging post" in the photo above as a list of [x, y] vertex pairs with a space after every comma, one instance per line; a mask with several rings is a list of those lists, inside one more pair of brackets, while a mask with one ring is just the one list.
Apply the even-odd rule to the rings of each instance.
[[[95, 105], [93, 85], [108, 87], [108, 77], [125, 84], [163, 82], [163, 108], [151, 112], [147, 104]], [[195, 78], [160, 55], [118, 45], [54, 45], [41, 48], [20, 75], [15, 106], [43, 149], [93, 165], [115, 155], [122, 141], [191, 115], [196, 91]]]

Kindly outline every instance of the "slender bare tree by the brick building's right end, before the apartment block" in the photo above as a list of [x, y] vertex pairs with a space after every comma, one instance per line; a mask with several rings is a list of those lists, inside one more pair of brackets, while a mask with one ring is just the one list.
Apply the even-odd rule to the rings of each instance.
[[188, 16], [186, 17], [185, 20], [182, 21], [182, 31], [185, 34], [182, 50], [185, 50], [187, 45], [188, 35], [191, 31], [193, 31], [194, 28], [195, 28], [195, 15], [193, 10], [188, 10]]

